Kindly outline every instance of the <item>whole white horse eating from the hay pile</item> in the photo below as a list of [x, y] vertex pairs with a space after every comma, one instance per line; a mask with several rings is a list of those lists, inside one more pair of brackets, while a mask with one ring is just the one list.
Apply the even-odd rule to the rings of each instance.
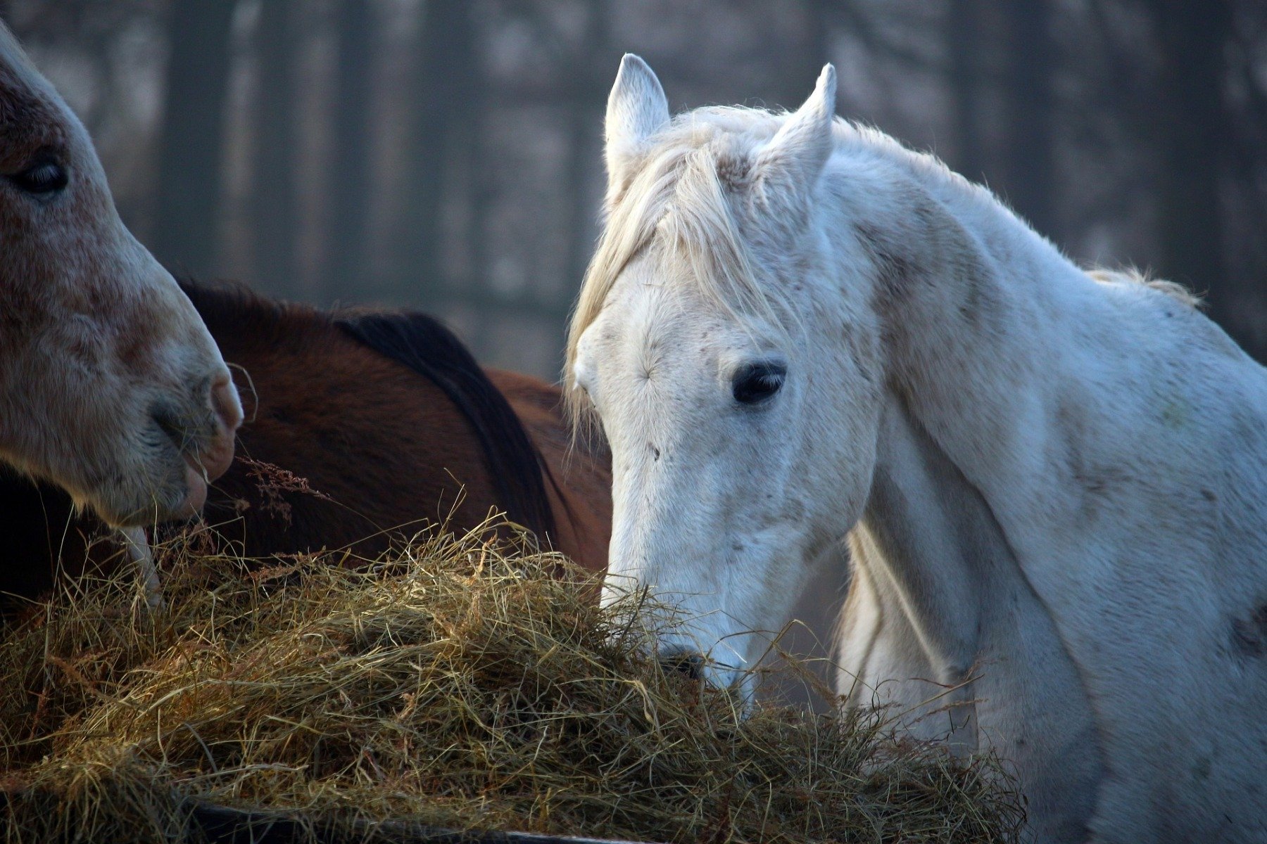
[[736, 682], [848, 535], [849, 704], [997, 752], [1044, 841], [1267, 840], [1264, 371], [834, 102], [672, 119], [621, 65], [565, 371], [611, 576]]

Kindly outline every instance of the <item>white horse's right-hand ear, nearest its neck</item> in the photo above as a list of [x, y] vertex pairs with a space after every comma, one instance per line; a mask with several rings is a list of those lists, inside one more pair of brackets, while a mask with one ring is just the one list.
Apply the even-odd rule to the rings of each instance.
[[758, 153], [756, 177], [770, 189], [803, 196], [818, 181], [831, 156], [831, 125], [836, 116], [836, 68], [822, 67], [813, 94], [787, 119]]

